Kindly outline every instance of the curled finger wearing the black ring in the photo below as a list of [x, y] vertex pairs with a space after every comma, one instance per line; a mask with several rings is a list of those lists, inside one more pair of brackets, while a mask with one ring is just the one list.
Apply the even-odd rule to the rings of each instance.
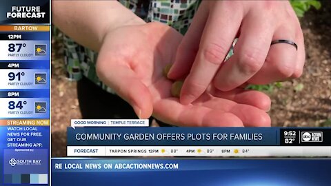
[[[280, 27], [274, 32], [272, 41], [286, 39], [297, 42], [292, 27]], [[268, 56], [263, 67], [248, 81], [252, 84], [267, 84], [284, 81], [292, 74], [297, 65], [297, 49], [288, 43], [270, 45]]]

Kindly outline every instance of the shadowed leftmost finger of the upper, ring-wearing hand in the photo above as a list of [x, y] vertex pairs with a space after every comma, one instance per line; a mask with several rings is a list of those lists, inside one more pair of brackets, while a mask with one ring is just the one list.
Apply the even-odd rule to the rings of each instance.
[[200, 8], [194, 16], [194, 19], [185, 33], [177, 49], [176, 58], [172, 68], [168, 72], [169, 79], [183, 79], [190, 72], [192, 63], [199, 50], [199, 43], [205, 21], [208, 18], [208, 9], [201, 2]]

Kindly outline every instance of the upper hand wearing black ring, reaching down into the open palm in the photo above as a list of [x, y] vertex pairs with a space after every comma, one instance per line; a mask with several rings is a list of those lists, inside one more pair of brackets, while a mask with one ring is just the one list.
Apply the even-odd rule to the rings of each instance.
[[[223, 63], [234, 38], [234, 55]], [[270, 43], [277, 39], [292, 45]], [[197, 100], [212, 83], [229, 91], [244, 83], [297, 78], [305, 50], [299, 20], [288, 1], [202, 1], [181, 41], [168, 77], [183, 83], [180, 101]]]

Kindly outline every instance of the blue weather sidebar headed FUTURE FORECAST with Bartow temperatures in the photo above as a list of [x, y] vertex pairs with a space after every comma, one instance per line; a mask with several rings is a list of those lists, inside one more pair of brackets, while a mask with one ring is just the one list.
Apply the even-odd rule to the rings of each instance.
[[44, 19], [6, 19], [20, 4], [0, 2], [0, 185], [48, 185], [50, 1], [29, 1]]

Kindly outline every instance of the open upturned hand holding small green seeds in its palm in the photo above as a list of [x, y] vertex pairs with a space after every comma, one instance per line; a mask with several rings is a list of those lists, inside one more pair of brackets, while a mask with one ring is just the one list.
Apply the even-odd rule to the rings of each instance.
[[263, 110], [270, 99], [261, 92], [210, 87], [190, 105], [170, 93], [172, 81], [162, 70], [174, 61], [182, 35], [168, 25], [146, 23], [107, 34], [99, 52], [99, 78], [128, 101], [139, 118], [151, 114], [165, 123], [184, 126], [270, 126]]

